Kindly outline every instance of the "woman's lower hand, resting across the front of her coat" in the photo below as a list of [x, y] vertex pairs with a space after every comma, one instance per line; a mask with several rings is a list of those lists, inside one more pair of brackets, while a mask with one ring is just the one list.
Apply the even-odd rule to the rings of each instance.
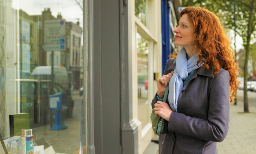
[[160, 116], [165, 120], [169, 121], [169, 118], [173, 112], [169, 105], [165, 102], [157, 101], [157, 103], [155, 103], [154, 106], [155, 115]]

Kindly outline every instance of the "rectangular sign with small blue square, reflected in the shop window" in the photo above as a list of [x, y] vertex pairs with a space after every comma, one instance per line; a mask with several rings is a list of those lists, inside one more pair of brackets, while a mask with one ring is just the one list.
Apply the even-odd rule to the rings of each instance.
[[66, 21], [63, 19], [44, 21], [44, 51], [66, 50]]

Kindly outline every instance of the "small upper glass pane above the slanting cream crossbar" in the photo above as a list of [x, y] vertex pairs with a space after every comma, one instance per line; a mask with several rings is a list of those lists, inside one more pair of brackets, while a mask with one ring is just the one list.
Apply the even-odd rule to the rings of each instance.
[[146, 0], [135, 0], [135, 15], [146, 26]]

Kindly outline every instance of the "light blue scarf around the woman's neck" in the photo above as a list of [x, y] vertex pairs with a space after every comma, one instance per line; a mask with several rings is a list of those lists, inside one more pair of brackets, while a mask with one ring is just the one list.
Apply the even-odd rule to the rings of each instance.
[[[168, 100], [171, 106], [171, 109], [177, 112], [177, 104], [179, 94], [183, 89], [183, 80], [188, 77], [188, 74], [198, 68], [197, 61], [199, 60], [196, 57], [196, 54], [192, 55], [189, 60], [187, 60], [187, 53], [184, 47], [181, 48], [177, 55], [176, 59], [176, 68], [174, 69], [173, 76], [169, 82], [169, 95]], [[202, 63], [198, 64], [199, 66]]]

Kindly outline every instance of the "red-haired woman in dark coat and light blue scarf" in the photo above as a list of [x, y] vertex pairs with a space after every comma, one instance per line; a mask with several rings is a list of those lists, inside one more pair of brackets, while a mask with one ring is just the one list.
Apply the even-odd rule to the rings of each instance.
[[167, 61], [152, 100], [155, 114], [168, 121], [162, 154], [217, 153], [217, 142], [228, 133], [230, 102], [235, 98], [240, 69], [213, 12], [185, 8], [174, 33], [174, 43], [182, 48]]

